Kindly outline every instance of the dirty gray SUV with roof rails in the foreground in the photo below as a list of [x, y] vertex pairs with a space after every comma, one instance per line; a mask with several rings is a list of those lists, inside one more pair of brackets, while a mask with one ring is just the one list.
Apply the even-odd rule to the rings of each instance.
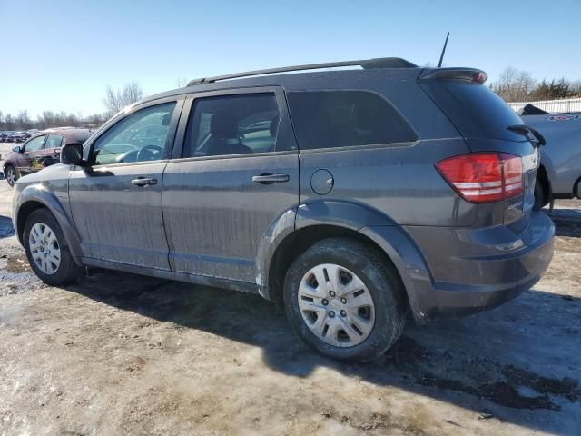
[[367, 361], [408, 312], [495, 307], [551, 261], [540, 140], [486, 78], [385, 58], [194, 80], [20, 179], [16, 233], [46, 283], [89, 265], [258, 293]]

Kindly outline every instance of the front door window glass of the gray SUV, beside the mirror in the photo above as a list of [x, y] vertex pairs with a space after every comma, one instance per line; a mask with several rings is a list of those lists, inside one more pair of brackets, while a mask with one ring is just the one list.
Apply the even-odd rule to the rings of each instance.
[[95, 165], [163, 159], [175, 102], [146, 107], [123, 118], [94, 143]]

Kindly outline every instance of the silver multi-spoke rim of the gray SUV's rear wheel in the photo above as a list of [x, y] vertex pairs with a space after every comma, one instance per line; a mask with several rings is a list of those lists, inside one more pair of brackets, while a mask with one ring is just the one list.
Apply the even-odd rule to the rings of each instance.
[[300, 280], [302, 320], [318, 339], [349, 348], [365, 341], [375, 323], [375, 303], [365, 282], [347, 268], [322, 263]]

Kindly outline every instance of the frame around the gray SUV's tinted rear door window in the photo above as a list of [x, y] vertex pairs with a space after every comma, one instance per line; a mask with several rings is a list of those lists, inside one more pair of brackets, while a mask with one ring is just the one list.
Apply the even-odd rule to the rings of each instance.
[[[277, 148], [273, 152], [265, 152], [260, 154], [286, 154], [293, 153], [298, 154], [298, 146], [294, 132], [291, 126], [291, 115], [289, 114], [289, 108], [287, 106], [286, 97], [284, 95], [284, 89], [281, 86], [253, 86], [249, 88], [229, 88], [215, 91], [202, 91], [192, 94], [188, 94], [185, 98], [185, 102], [182, 108], [182, 115], [180, 117], [179, 125], [176, 132], [175, 146], [172, 151], [172, 159], [221, 159], [222, 156], [200, 156], [200, 157], [183, 157], [185, 152], [185, 135], [187, 130], [187, 125], [190, 116], [193, 115], [193, 108], [195, 106], [195, 101], [201, 98], [218, 97], [218, 96], [235, 96], [241, 94], [269, 94], [274, 93], [276, 98], [276, 103], [279, 108], [279, 114], [281, 116], [279, 122], [279, 130], [277, 134]], [[279, 144], [285, 144], [286, 146], [282, 149], [279, 148]], [[285, 153], [286, 152], [286, 153]], [[233, 154], [232, 158], [245, 157], [251, 155], [259, 154]]]

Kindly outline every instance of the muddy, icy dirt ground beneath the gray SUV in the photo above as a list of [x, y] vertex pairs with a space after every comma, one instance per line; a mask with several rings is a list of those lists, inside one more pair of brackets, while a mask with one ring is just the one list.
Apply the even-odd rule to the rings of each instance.
[[11, 202], [0, 181], [0, 435], [581, 432], [581, 202], [557, 203], [533, 290], [409, 322], [365, 365], [310, 352], [251, 295], [104, 270], [46, 286]]

